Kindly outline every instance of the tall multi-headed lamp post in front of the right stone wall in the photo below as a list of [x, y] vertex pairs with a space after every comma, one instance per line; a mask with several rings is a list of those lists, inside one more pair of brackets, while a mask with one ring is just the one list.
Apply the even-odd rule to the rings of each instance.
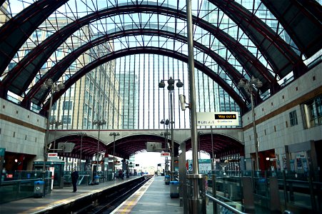
[[261, 88], [263, 86], [263, 83], [258, 79], [251, 77], [251, 80], [248, 81], [246, 78], [242, 78], [238, 83], [238, 88], [244, 88], [245, 91], [248, 93], [249, 96], [251, 96], [251, 114], [253, 116], [253, 139], [255, 143], [255, 153], [256, 153], [256, 160], [255, 160], [255, 170], [258, 170], [258, 140], [257, 140], [257, 132], [256, 132], [256, 122], [255, 122], [255, 111], [254, 111], [254, 105], [253, 105], [253, 86], [256, 86], [256, 88]]

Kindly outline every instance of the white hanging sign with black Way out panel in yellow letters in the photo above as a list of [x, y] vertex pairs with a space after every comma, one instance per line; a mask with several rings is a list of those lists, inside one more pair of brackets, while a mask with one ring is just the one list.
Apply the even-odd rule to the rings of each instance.
[[197, 112], [197, 126], [239, 126], [238, 112]]

